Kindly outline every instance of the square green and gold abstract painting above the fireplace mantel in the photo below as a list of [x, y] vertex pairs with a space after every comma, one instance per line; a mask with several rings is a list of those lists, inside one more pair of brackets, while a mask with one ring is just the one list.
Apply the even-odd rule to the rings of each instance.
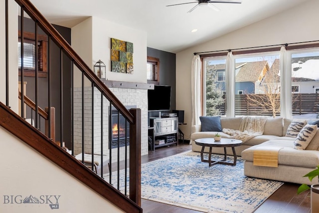
[[133, 43], [111, 38], [111, 71], [133, 74]]

